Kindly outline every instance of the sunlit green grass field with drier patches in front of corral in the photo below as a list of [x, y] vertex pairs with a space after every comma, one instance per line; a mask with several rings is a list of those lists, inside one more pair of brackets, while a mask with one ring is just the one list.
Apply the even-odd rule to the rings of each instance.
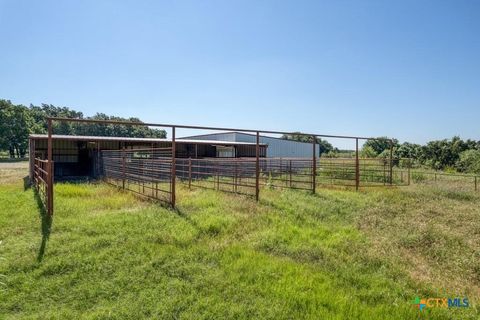
[[[0, 319], [478, 319], [480, 195], [179, 186], [178, 209], [0, 164]], [[468, 297], [465, 309], [413, 299]]]

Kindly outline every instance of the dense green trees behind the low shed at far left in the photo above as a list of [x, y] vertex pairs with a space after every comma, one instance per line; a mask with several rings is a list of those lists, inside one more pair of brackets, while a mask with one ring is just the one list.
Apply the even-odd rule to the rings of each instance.
[[[0, 99], [0, 150], [8, 150], [10, 157], [24, 157], [28, 149], [28, 136], [32, 133], [47, 132], [47, 117], [116, 120], [142, 123], [138, 118], [121, 118], [97, 113], [84, 117], [82, 112], [51, 104], [41, 106], [14, 105], [9, 100]], [[78, 122], [54, 122], [54, 134], [119, 136], [136, 138], [165, 138], [165, 130], [151, 129], [148, 126], [103, 125]]]

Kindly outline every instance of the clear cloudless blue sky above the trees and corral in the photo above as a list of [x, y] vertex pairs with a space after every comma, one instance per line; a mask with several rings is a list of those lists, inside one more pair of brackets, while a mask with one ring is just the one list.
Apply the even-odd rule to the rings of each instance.
[[14, 103], [480, 139], [480, 1], [0, 0], [0, 41]]

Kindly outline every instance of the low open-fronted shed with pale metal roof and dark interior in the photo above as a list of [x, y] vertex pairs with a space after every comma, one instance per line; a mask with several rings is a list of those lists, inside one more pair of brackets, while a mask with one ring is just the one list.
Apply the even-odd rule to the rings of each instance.
[[[33, 174], [33, 159], [47, 158], [47, 135], [32, 134], [29, 137], [30, 174]], [[171, 148], [170, 139], [128, 138], [101, 136], [53, 135], [52, 157], [55, 162], [54, 177], [71, 179], [97, 177], [101, 175], [101, 151], [106, 150], [146, 150]], [[192, 159], [210, 158], [254, 158], [256, 144], [249, 142], [220, 141], [207, 139], [176, 140], [175, 157]], [[261, 144], [260, 157], [266, 156], [267, 146]], [[171, 157], [171, 152], [168, 155]]]

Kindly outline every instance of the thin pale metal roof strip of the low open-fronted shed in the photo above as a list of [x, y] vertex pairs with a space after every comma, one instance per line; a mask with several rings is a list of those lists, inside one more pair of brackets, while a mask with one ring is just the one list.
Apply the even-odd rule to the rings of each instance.
[[[30, 139], [47, 139], [46, 134], [31, 134]], [[54, 140], [75, 140], [75, 141], [125, 141], [125, 142], [172, 142], [172, 139], [168, 138], [131, 138], [131, 137], [102, 137], [102, 136], [75, 136], [75, 135], [52, 135]], [[176, 143], [192, 143], [192, 144], [212, 144], [212, 145], [255, 145], [251, 142], [235, 142], [235, 141], [222, 141], [222, 140], [200, 140], [200, 139], [183, 139], [178, 138]], [[266, 144], [261, 143], [261, 146]]]

